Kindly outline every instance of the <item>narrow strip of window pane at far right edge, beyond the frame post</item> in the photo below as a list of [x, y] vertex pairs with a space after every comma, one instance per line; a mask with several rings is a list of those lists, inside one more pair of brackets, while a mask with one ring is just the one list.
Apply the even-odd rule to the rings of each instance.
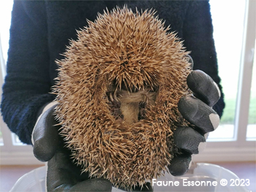
[[[255, 41], [256, 45], [256, 41]], [[256, 60], [256, 51], [255, 51]], [[254, 60], [252, 69], [251, 96], [249, 102], [249, 118], [246, 132], [246, 140], [256, 140], [256, 61]]]

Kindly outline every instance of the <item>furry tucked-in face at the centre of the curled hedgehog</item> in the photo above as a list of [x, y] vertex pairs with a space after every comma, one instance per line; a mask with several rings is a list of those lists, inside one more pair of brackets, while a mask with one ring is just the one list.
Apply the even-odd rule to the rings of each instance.
[[[128, 74], [131, 74], [129, 71]], [[141, 74], [140, 74], [141, 75]], [[152, 80], [143, 77], [144, 81], [140, 84], [133, 84], [135, 77], [124, 78], [123, 80], [114, 80], [108, 87], [109, 107], [116, 120], [124, 120], [125, 123], [136, 123], [145, 118], [146, 107], [153, 105], [157, 98], [157, 85], [152, 85]], [[131, 79], [133, 82], [131, 82]]]

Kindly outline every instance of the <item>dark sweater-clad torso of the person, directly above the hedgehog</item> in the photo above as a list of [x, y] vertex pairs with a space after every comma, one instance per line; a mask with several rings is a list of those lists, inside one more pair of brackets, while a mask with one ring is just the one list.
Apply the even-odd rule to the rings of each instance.
[[[97, 14], [108, 8], [124, 7], [133, 11], [155, 10], [156, 16], [170, 26], [170, 31], [176, 31], [182, 39], [182, 28], [186, 16], [188, 1], [45, 1], [48, 20], [48, 44], [50, 53], [50, 77], [54, 80], [58, 71], [56, 59], [62, 59], [61, 53], [69, 45], [69, 39], [77, 39], [80, 28], [87, 26], [86, 20], [94, 21]], [[54, 85], [54, 81], [52, 81]]]

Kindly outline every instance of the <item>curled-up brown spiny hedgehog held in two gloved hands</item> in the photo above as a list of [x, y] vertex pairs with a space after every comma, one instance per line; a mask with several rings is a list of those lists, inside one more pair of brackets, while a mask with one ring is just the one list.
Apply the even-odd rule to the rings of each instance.
[[56, 61], [60, 134], [81, 172], [143, 186], [181, 153], [173, 131], [189, 124], [177, 107], [189, 52], [152, 9], [116, 7], [87, 22]]

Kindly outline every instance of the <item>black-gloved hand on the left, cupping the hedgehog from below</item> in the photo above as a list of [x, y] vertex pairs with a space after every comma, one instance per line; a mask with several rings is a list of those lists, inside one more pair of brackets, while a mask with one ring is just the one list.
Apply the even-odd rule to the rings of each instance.
[[53, 116], [56, 105], [39, 117], [32, 139], [34, 155], [39, 161], [48, 161], [47, 191], [111, 191], [112, 184], [103, 178], [89, 178], [89, 173], [80, 172], [70, 158], [70, 151], [64, 147], [59, 136], [60, 126]]

